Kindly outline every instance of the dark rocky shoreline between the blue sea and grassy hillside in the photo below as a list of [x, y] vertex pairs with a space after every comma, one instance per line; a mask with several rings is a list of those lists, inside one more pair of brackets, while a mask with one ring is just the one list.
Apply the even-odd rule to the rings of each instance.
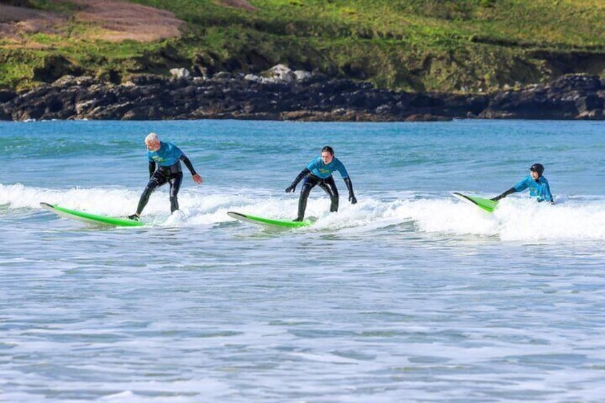
[[291, 71], [138, 76], [108, 83], [64, 76], [24, 91], [0, 90], [0, 120], [254, 119], [449, 121], [456, 118], [605, 120], [605, 78], [568, 75], [492, 94], [408, 93]]

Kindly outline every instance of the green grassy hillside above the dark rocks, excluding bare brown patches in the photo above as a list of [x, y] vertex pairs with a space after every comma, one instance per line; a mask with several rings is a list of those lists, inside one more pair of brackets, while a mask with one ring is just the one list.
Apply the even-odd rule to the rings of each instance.
[[[488, 91], [561, 73], [536, 51], [589, 53], [605, 64], [602, 0], [250, 0], [258, 11], [213, 0], [133, 2], [172, 11], [187, 23], [183, 36], [151, 44], [87, 41], [95, 28], [69, 20], [60, 34], [29, 36], [29, 46], [0, 41], [0, 86], [36, 85], [34, 68], [44, 63], [36, 56], [53, 54], [93, 76], [167, 74], [194, 61], [245, 72], [287, 63], [416, 91]], [[66, 15], [76, 10], [68, 2], [32, 4]], [[178, 55], [166, 58], [167, 51]], [[599, 66], [569, 68], [603, 73]]]

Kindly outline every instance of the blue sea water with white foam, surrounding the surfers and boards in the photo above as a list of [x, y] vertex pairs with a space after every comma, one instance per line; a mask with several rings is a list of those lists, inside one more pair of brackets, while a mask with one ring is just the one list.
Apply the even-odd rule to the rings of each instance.
[[[0, 401], [600, 402], [605, 397], [605, 123], [0, 123]], [[141, 228], [40, 202], [134, 212], [143, 138], [185, 169]], [[359, 202], [294, 218], [330, 145]], [[555, 205], [493, 197], [542, 163]]]

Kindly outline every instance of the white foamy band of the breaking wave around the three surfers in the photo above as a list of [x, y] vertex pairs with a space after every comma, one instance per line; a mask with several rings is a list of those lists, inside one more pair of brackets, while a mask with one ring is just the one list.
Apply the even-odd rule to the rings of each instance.
[[[101, 215], [133, 213], [140, 190], [124, 188], [47, 189], [21, 184], [0, 184], [0, 205], [9, 209], [39, 209], [39, 203], [58, 204]], [[310, 196], [306, 217], [317, 219], [306, 231], [345, 230], [371, 233], [378, 228], [401, 223], [415, 224], [420, 233], [434, 235], [474, 235], [501, 240], [605, 240], [605, 198], [559, 196], [556, 205], [537, 203], [531, 198], [509, 197], [500, 201], [494, 213], [459, 202], [449, 195], [400, 193], [367, 198], [351, 205], [340, 199], [338, 213], [330, 213], [330, 200], [322, 193]], [[230, 189], [211, 186], [181, 190], [183, 214], [170, 215], [168, 192], [151, 195], [143, 220], [166, 225], [213, 225], [233, 220], [226, 214], [237, 211], [267, 218], [294, 218], [298, 195], [273, 194], [266, 189]], [[392, 229], [393, 235], [400, 231]]]

